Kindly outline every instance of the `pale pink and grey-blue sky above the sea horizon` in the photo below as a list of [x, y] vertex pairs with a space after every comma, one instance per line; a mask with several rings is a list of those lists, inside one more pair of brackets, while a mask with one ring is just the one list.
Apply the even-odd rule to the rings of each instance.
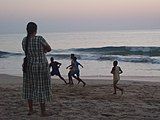
[[160, 29], [160, 0], [0, 0], [0, 33]]

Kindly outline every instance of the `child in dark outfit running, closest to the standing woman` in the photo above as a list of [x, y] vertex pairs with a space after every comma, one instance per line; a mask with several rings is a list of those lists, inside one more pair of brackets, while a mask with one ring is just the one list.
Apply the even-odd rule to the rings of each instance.
[[51, 63], [49, 64], [49, 68], [52, 67], [51, 76], [54, 76], [54, 75], [59, 76], [59, 78], [62, 79], [67, 84], [67, 82], [59, 72], [59, 67], [61, 66], [61, 63], [54, 61], [53, 57], [51, 57], [50, 60], [51, 60]]

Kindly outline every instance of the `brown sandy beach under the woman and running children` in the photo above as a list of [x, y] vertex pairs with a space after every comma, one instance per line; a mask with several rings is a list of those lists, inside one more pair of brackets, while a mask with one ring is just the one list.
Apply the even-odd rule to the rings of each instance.
[[[105, 79], [83, 78], [87, 85], [68, 86], [63, 81], [52, 79], [53, 100], [47, 109], [50, 117], [40, 117], [39, 104], [34, 104], [36, 113], [27, 116], [28, 106], [21, 98], [22, 77], [0, 75], [0, 120], [159, 120], [160, 82], [145, 82], [145, 79], [160, 80], [160, 77], [122, 77], [118, 91], [113, 95], [111, 77]], [[141, 80], [141, 82], [136, 81]]]

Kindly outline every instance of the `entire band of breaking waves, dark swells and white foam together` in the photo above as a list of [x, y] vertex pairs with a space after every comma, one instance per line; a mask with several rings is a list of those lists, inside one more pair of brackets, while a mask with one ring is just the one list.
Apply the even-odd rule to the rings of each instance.
[[[160, 64], [160, 47], [100, 47], [100, 48], [74, 48], [67, 50], [52, 50], [48, 57], [56, 60], [70, 59], [70, 54], [74, 53], [80, 60], [97, 61], [123, 61], [133, 63]], [[0, 58], [9, 56], [21, 56], [24, 53], [12, 53], [0, 51]]]

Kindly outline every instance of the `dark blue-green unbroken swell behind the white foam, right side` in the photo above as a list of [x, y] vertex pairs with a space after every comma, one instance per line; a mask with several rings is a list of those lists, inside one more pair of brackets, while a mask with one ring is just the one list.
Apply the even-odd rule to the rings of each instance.
[[160, 56], [160, 47], [99, 47], [99, 48], [79, 48], [71, 49], [81, 53], [101, 54], [101, 55], [143, 55]]

